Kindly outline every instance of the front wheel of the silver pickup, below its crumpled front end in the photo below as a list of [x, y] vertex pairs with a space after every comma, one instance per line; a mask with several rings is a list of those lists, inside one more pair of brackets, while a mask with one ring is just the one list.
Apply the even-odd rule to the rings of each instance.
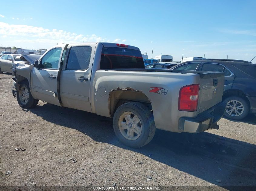
[[38, 100], [34, 99], [30, 92], [28, 81], [20, 83], [19, 91], [17, 90], [17, 101], [22, 108], [33, 108], [38, 104]]

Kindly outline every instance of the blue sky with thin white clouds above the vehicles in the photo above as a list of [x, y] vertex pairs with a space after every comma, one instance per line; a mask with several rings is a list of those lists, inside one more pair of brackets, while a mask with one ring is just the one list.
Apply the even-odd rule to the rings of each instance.
[[[9, 3], [10, 4], [10, 3]], [[10, 9], [11, 7], [11, 9]], [[256, 56], [256, 1], [13, 1], [0, 11], [0, 45], [118, 42], [151, 57]], [[255, 62], [255, 59], [254, 59]]]

